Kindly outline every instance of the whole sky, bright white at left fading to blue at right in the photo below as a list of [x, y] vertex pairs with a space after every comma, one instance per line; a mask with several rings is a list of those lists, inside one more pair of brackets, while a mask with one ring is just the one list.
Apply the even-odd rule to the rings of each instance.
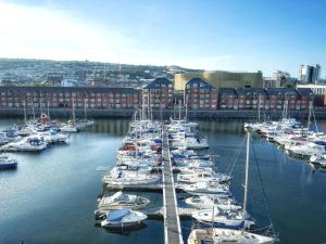
[[326, 75], [326, 0], [0, 0], [0, 56]]

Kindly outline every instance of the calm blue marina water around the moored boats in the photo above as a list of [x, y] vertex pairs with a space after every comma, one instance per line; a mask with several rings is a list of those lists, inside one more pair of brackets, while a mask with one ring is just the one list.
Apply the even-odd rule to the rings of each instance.
[[[0, 120], [8, 128], [21, 120]], [[102, 192], [101, 176], [115, 165], [116, 150], [128, 130], [128, 119], [96, 120], [93, 128], [72, 134], [68, 145], [53, 145], [39, 154], [12, 153], [16, 170], [0, 171], [0, 244], [164, 243], [163, 221], [146, 220], [141, 230], [112, 233], [95, 226], [93, 210]], [[326, 131], [326, 121], [319, 123]], [[231, 192], [242, 201], [244, 130], [242, 121], [200, 121], [208, 136], [217, 171], [233, 169]], [[281, 244], [318, 244], [326, 241], [326, 172], [305, 160], [289, 157], [253, 134], [250, 160], [249, 211], [267, 224], [256, 157], [266, 202]], [[242, 150], [238, 150], [239, 146]], [[239, 155], [235, 157], [237, 151]], [[162, 205], [160, 193], [141, 193], [151, 205]], [[179, 195], [179, 204], [184, 205]], [[191, 220], [181, 221], [184, 240]]]

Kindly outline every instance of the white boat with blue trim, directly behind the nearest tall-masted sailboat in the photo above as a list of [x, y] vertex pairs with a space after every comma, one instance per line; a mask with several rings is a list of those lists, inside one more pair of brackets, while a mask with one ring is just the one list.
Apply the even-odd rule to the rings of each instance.
[[196, 210], [191, 214], [191, 217], [202, 224], [227, 229], [241, 229], [243, 224], [246, 229], [250, 229], [255, 224], [254, 219], [248, 214], [243, 221], [242, 210], [223, 210], [218, 207]]

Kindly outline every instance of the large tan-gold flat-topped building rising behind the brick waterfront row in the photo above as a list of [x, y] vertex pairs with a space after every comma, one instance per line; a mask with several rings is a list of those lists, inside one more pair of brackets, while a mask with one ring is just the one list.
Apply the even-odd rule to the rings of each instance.
[[229, 87], [263, 87], [263, 74], [261, 72], [201, 72], [201, 73], [184, 73], [175, 74], [174, 89], [176, 91], [185, 90], [186, 84], [192, 78], [201, 78], [215, 88]]

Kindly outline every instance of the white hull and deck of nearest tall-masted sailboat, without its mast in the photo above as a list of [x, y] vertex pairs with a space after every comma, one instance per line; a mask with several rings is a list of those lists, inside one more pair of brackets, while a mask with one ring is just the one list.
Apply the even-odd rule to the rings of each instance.
[[225, 228], [195, 229], [188, 236], [188, 244], [274, 244], [276, 241], [275, 236]]

